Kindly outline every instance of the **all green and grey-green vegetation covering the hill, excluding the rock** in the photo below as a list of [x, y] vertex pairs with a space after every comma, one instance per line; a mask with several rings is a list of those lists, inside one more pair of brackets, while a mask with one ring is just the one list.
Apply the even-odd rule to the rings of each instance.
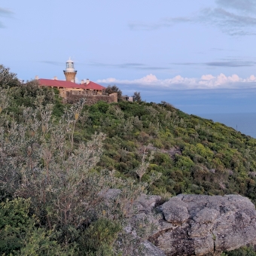
[[[4, 66], [0, 90], [1, 254], [120, 254], [123, 206], [142, 192], [256, 203], [256, 139], [221, 123], [166, 102], [65, 105]], [[127, 194], [106, 205], [109, 187]]]

